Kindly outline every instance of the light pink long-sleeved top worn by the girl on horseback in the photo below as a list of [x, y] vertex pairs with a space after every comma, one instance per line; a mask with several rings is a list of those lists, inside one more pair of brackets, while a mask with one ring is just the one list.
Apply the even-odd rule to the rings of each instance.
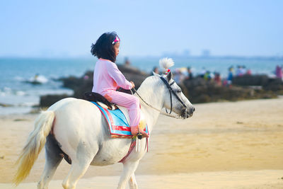
[[98, 59], [93, 71], [93, 92], [105, 95], [108, 91], [116, 91], [120, 86], [131, 89], [132, 84], [117, 68], [117, 65], [108, 59]]

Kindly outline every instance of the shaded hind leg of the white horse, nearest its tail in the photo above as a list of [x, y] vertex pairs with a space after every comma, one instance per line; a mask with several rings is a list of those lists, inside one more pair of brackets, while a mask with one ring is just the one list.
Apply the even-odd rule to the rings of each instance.
[[54, 137], [49, 134], [47, 141], [45, 143], [45, 168], [37, 184], [37, 188], [45, 189], [48, 183], [51, 181], [57, 166], [59, 166], [62, 161], [62, 156], [60, 155], [59, 147]]

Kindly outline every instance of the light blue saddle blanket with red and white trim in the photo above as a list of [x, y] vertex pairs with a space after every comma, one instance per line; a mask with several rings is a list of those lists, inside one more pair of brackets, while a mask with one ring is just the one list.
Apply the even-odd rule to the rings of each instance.
[[[109, 110], [103, 108], [96, 102], [91, 102], [95, 104], [100, 112], [103, 114], [105, 120], [108, 122], [108, 129], [112, 138], [132, 138], [131, 127], [129, 127], [129, 122], [127, 121], [126, 116], [118, 108], [116, 110]], [[146, 127], [144, 131], [149, 134], [149, 130]]]

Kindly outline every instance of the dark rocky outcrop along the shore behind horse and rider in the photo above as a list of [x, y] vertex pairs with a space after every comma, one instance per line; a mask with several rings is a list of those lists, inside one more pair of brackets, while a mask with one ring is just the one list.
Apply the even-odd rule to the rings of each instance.
[[[139, 88], [142, 81], [149, 76], [149, 74], [127, 65], [118, 65], [118, 67], [127, 80], [134, 81], [136, 88]], [[87, 71], [86, 74], [80, 78], [69, 76], [68, 78], [62, 78], [60, 80], [63, 81], [64, 87], [74, 90], [73, 97], [83, 98], [85, 92], [92, 90], [93, 71]], [[270, 79], [265, 75], [235, 77], [233, 79], [233, 85], [231, 86], [219, 86], [219, 84], [216, 84], [213, 80], [207, 81], [201, 77], [196, 77], [195, 79], [183, 81], [180, 87], [183, 89], [185, 96], [187, 96], [192, 103], [276, 98], [278, 94], [283, 94], [282, 81], [279, 79]], [[42, 96], [40, 98], [40, 107], [50, 106], [66, 97], [68, 96]]]

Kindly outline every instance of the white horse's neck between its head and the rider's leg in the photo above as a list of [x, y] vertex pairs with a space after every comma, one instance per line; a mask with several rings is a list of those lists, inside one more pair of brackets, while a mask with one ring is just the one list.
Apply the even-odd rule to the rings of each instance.
[[[139, 93], [141, 98], [152, 107], [158, 110], [163, 108], [163, 88], [160, 86], [151, 86], [148, 84], [141, 85], [137, 90], [137, 93]], [[135, 95], [137, 96], [137, 94]], [[141, 99], [139, 101], [141, 103], [141, 111], [144, 113], [147, 125], [149, 126], [149, 132], [151, 132], [152, 127], [156, 124], [160, 112], [149, 107], [149, 105], [146, 105], [146, 103], [144, 103]]]

